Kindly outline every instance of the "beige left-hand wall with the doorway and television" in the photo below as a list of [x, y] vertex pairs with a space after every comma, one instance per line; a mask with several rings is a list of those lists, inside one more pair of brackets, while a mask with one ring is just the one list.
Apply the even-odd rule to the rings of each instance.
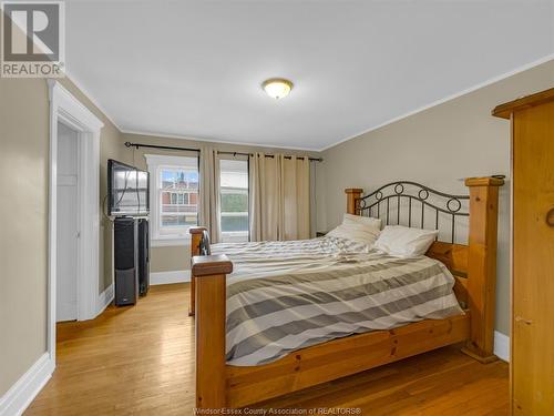
[[[69, 80], [62, 84], [105, 124], [105, 160], [119, 156], [120, 133]], [[0, 396], [47, 351], [49, 129], [47, 81], [0, 79]], [[101, 267], [100, 292], [110, 270]]]

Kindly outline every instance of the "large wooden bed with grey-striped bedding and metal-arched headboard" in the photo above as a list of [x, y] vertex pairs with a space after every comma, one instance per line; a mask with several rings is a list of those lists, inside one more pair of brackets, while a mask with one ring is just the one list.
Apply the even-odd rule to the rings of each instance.
[[[211, 245], [207, 230], [192, 229], [196, 406], [243, 407], [462, 342], [475, 359], [495, 359], [503, 181], [465, 184], [469, 195], [410, 181], [366, 196], [346, 190], [349, 214], [421, 229], [447, 221], [448, 237], [424, 256], [391, 256], [334, 236]], [[460, 244], [456, 221], [464, 219], [468, 244]]]

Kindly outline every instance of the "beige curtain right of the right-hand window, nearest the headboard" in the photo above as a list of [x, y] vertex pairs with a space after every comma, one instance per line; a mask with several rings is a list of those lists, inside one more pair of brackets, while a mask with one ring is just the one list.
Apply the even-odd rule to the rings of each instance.
[[310, 237], [310, 162], [308, 158], [249, 158], [250, 240]]

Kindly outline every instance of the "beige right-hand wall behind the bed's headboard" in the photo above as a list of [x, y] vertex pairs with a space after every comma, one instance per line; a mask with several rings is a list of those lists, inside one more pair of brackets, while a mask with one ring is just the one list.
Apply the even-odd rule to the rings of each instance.
[[551, 61], [325, 151], [318, 199], [326, 212], [318, 217], [319, 229], [340, 222], [345, 187], [371, 191], [403, 179], [465, 192], [463, 177], [506, 175], [500, 204], [496, 328], [509, 334], [510, 123], [490, 113], [496, 104], [553, 87]]

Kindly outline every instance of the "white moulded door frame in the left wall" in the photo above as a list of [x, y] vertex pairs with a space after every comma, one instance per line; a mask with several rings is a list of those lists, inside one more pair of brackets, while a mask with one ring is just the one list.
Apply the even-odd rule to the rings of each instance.
[[59, 81], [48, 80], [50, 99], [48, 351], [55, 363], [58, 254], [58, 122], [78, 132], [79, 258], [78, 321], [98, 315], [100, 276], [100, 131], [104, 125]]

